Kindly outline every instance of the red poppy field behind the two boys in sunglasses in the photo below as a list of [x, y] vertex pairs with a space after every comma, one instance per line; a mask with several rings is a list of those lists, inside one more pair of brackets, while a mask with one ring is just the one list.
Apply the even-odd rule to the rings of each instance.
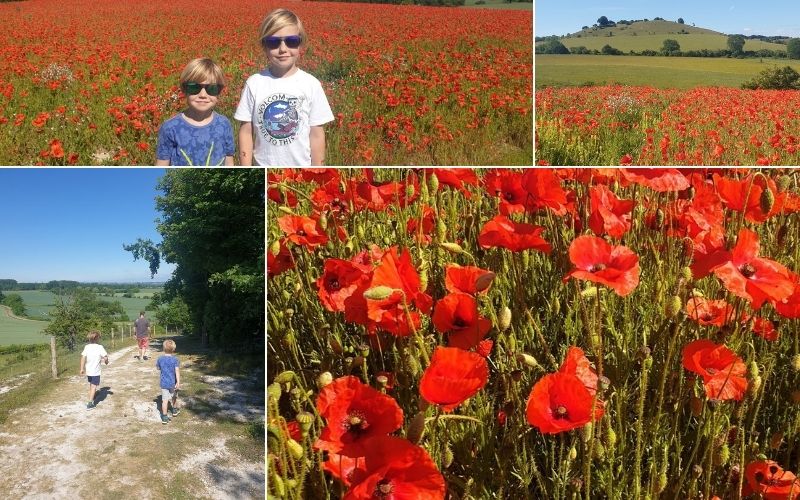
[[[211, 57], [230, 118], [266, 66], [263, 0], [0, 3], [0, 164], [153, 164], [185, 108], [181, 70]], [[530, 12], [292, 2], [336, 121], [326, 163], [524, 165], [533, 158]]]

